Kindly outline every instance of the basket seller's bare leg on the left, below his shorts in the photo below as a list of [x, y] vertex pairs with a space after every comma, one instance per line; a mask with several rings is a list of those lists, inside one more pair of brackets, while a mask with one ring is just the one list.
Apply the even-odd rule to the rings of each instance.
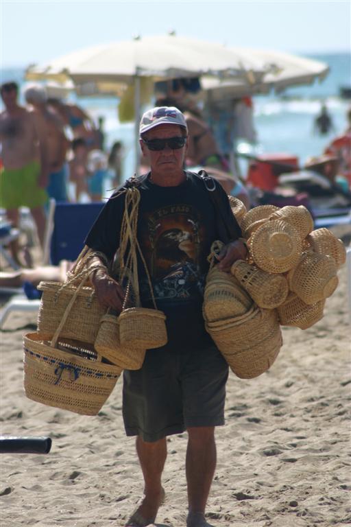
[[[138, 454], [141, 470], [144, 476], [145, 497], [141, 506], [138, 508], [137, 515], [145, 518], [148, 525], [154, 523], [158, 508], [164, 497], [161, 477], [167, 458], [166, 438], [153, 443], [146, 443], [141, 437], [136, 438], [136, 452]], [[129, 525], [127, 523], [127, 525]], [[133, 525], [130, 523], [130, 525]], [[138, 525], [136, 522], [134, 525]], [[143, 525], [141, 523], [140, 525]]]

